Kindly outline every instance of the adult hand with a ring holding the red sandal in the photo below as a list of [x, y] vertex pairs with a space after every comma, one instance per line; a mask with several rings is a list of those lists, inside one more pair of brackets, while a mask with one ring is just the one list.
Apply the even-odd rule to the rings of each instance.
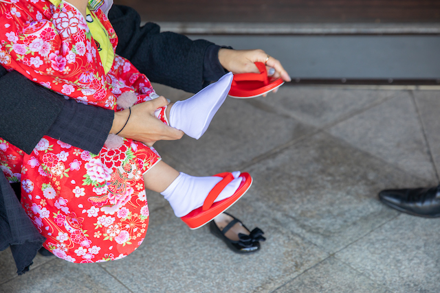
[[275, 69], [275, 73], [272, 75], [274, 78], [281, 77], [285, 82], [292, 80], [289, 73], [281, 65], [281, 62], [269, 56], [261, 49], [233, 50], [221, 48], [219, 50], [219, 61], [224, 69], [232, 71], [232, 73], [259, 73], [254, 62], [263, 62], [266, 64], [266, 67]]

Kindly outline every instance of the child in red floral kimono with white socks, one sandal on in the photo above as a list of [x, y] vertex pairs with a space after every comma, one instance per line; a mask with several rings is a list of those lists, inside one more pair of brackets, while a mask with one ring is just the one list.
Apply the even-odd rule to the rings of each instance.
[[[0, 0], [1, 65], [102, 108], [121, 110], [158, 97], [145, 75], [115, 55], [118, 38], [105, 13], [84, 2]], [[108, 11], [111, 4], [104, 4]], [[190, 99], [157, 109], [157, 117], [198, 139], [231, 82], [228, 73]], [[45, 248], [76, 263], [120, 259], [142, 243], [149, 219], [145, 189], [163, 194], [177, 217], [199, 228], [252, 183], [241, 172], [179, 173], [154, 148], [114, 137], [91, 154], [46, 136], [30, 155], [0, 138], [0, 167], [10, 182], [21, 182], [21, 203], [47, 237]]]

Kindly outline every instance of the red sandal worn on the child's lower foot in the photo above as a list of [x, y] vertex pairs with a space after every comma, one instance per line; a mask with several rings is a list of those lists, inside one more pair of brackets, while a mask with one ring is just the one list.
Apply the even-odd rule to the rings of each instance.
[[184, 215], [181, 217], [181, 220], [187, 224], [191, 230], [200, 228], [201, 226], [208, 224], [212, 221], [217, 215], [223, 213], [229, 209], [232, 204], [234, 204], [241, 196], [243, 196], [246, 191], [252, 185], [252, 177], [249, 173], [241, 173], [241, 184], [238, 189], [236, 189], [235, 193], [229, 198], [225, 198], [219, 202], [214, 202], [214, 200], [219, 196], [220, 192], [228, 185], [232, 180], [234, 180], [234, 176], [230, 172], [220, 173], [214, 176], [223, 177], [223, 179], [214, 186], [214, 188], [210, 191], [208, 196], [203, 202], [203, 206], [199, 207], [188, 215]]

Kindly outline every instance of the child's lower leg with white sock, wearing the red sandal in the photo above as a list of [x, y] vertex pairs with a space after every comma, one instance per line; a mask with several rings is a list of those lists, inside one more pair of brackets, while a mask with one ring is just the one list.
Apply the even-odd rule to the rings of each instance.
[[[232, 174], [235, 179], [226, 185], [214, 202], [229, 198], [239, 188], [240, 172]], [[175, 215], [179, 218], [201, 207], [206, 196], [221, 179], [217, 176], [195, 177], [179, 173], [163, 161], [144, 174], [145, 188], [160, 192], [170, 202]]]

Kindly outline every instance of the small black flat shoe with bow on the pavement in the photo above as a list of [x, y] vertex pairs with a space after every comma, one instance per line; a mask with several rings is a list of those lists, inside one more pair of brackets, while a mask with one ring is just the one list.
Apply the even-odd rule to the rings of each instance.
[[265, 241], [260, 228], [249, 231], [245, 225], [228, 213], [221, 213], [209, 223], [212, 234], [222, 239], [234, 253], [256, 253]]

